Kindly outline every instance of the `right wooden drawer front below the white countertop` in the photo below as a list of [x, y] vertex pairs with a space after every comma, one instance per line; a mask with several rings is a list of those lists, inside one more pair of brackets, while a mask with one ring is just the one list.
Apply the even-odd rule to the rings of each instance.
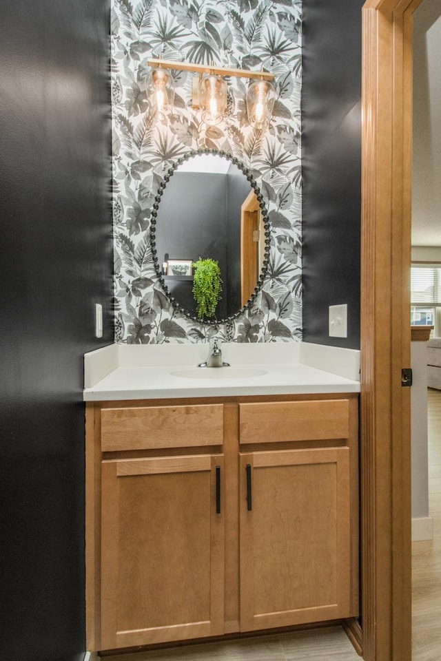
[[240, 443], [324, 441], [349, 437], [349, 400], [239, 404]]

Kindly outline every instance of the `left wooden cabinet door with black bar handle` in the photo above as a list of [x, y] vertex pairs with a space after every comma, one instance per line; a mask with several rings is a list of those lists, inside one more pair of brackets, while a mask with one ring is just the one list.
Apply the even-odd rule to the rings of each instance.
[[103, 461], [101, 649], [223, 633], [223, 457]]

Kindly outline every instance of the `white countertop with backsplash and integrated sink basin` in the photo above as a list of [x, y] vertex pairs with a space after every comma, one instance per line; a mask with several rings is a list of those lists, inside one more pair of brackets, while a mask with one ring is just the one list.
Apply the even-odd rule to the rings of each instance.
[[207, 344], [112, 344], [85, 354], [85, 401], [360, 391], [360, 352], [303, 342], [222, 344], [230, 367], [198, 368]]

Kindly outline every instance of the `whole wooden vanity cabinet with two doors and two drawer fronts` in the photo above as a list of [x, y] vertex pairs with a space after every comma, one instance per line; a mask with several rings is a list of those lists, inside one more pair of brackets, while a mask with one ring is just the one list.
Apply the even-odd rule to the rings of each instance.
[[88, 649], [358, 615], [358, 395], [87, 404]]

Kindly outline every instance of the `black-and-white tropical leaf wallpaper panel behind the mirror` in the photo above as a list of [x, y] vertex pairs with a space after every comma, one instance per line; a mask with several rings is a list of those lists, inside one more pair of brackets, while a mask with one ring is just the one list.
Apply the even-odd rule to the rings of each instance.
[[[301, 339], [300, 0], [113, 0], [112, 139], [115, 340], [128, 344]], [[155, 118], [147, 59], [273, 72], [267, 129], [249, 125], [246, 78], [229, 78], [228, 112], [216, 126], [191, 107], [191, 72], [173, 72], [174, 108]], [[225, 324], [186, 317], [163, 293], [152, 259], [151, 209], [176, 159], [223, 150], [258, 182], [271, 221], [271, 252], [254, 304]]]

